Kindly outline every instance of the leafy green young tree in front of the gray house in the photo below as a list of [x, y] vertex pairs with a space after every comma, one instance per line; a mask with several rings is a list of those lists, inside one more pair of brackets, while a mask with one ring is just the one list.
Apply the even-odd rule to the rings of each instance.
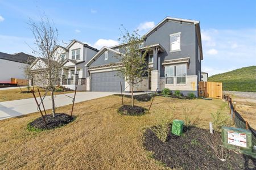
[[125, 80], [131, 86], [131, 106], [134, 106], [134, 86], [142, 81], [142, 76], [147, 72], [146, 54], [147, 49], [140, 49], [143, 43], [143, 37], [139, 36], [138, 29], [129, 32], [123, 28], [125, 32], [121, 31], [122, 37], [119, 41], [123, 45], [119, 48], [122, 53], [120, 61], [122, 67], [119, 67], [118, 73], [125, 77]]

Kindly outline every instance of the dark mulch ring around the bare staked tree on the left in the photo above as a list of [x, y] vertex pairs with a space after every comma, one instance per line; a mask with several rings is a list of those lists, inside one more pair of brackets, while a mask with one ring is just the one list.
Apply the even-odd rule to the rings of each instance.
[[46, 130], [46, 129], [53, 129], [63, 125], [67, 125], [70, 122], [72, 122], [74, 119], [73, 117], [65, 113], [56, 113], [55, 117], [52, 117], [52, 114], [47, 114], [47, 115], [44, 115], [44, 118], [47, 122], [47, 126], [42, 116], [39, 118], [36, 118], [36, 120], [30, 122], [28, 125], [32, 126], [35, 129]]

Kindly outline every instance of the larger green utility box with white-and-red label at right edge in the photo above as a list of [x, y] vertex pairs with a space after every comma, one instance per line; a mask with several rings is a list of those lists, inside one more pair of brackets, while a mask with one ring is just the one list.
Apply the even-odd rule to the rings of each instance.
[[237, 150], [253, 157], [256, 156], [256, 153], [253, 152], [253, 141], [250, 130], [222, 126], [221, 138], [226, 148]]

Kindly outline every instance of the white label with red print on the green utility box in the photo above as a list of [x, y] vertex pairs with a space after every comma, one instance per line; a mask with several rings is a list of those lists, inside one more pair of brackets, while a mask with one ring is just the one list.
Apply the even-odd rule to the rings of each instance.
[[246, 134], [228, 131], [228, 143], [240, 147], [246, 147]]

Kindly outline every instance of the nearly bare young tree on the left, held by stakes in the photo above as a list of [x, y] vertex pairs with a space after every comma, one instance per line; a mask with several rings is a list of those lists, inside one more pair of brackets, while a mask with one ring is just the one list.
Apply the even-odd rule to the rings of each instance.
[[32, 48], [34, 56], [40, 57], [42, 62], [36, 62], [36, 69], [26, 71], [30, 75], [33, 73], [33, 80], [36, 84], [51, 91], [52, 116], [55, 117], [53, 94], [56, 85], [60, 82], [62, 63], [60, 54], [55, 52], [59, 34], [46, 16], [43, 16], [38, 23], [30, 20], [28, 24], [35, 38], [35, 48]]

